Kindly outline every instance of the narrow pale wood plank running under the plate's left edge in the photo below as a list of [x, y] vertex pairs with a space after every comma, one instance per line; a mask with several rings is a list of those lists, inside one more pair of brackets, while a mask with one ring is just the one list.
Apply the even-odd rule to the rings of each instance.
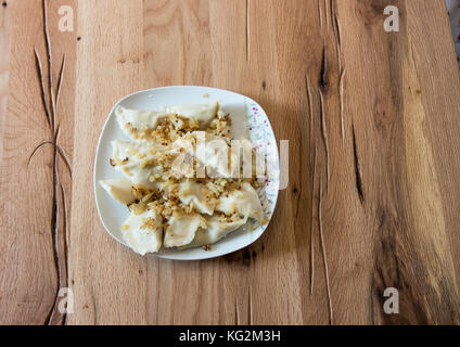
[[79, 204], [72, 210], [69, 248], [76, 313], [68, 323], [142, 323], [150, 310], [148, 294], [156, 297], [143, 275], [148, 260], [108, 236], [92, 194], [92, 163], [105, 117], [118, 99], [142, 89], [142, 27], [133, 25], [142, 23], [142, 1], [79, 1], [78, 17], [85, 17], [77, 34], [73, 163], [73, 200]]

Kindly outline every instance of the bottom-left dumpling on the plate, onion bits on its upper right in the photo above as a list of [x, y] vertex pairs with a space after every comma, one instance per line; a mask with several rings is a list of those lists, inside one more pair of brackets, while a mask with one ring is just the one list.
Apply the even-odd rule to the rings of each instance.
[[122, 235], [125, 243], [142, 256], [157, 253], [162, 247], [163, 219], [154, 210], [141, 215], [131, 213], [122, 227]]

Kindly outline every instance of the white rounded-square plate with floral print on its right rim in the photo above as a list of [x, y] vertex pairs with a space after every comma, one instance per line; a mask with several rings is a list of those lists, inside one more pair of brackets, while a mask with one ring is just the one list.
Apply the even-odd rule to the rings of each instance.
[[[119, 174], [110, 165], [112, 144], [114, 140], [128, 140], [119, 129], [115, 116], [118, 106], [136, 110], [162, 111], [177, 104], [200, 104], [218, 101], [225, 113], [232, 118], [233, 138], [250, 138], [257, 145], [266, 149], [267, 163], [272, 170], [266, 185], [258, 191], [266, 217], [271, 219], [278, 198], [279, 190], [279, 156], [277, 140], [264, 110], [247, 97], [221, 89], [207, 87], [177, 86], [164, 87], [136, 92], [125, 97], [112, 108], [99, 139], [94, 160], [94, 196], [98, 213], [106, 231], [118, 242], [125, 244], [122, 237], [120, 226], [129, 216], [128, 208], [113, 200], [99, 184], [100, 180], [119, 177]], [[272, 177], [271, 177], [272, 176]], [[247, 223], [227, 237], [210, 246], [210, 250], [203, 248], [164, 249], [154, 256], [174, 260], [199, 260], [219, 257], [255, 242], [268, 224]]]

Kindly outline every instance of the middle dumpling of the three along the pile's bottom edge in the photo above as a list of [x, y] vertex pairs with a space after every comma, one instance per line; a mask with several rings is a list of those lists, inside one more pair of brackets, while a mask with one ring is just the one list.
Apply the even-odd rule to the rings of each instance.
[[202, 216], [175, 213], [168, 220], [164, 246], [173, 248], [190, 244], [195, 239], [199, 228], [206, 228], [206, 220]]

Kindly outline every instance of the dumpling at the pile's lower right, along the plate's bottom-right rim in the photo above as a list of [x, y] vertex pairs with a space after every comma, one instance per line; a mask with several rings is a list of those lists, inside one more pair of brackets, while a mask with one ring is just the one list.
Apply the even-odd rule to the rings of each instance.
[[187, 246], [187, 248], [212, 245], [247, 222], [247, 217], [240, 218], [238, 216], [233, 216], [231, 219], [231, 221], [221, 221], [220, 217], [217, 215], [207, 217], [207, 229], [200, 228], [195, 233], [195, 239]]

